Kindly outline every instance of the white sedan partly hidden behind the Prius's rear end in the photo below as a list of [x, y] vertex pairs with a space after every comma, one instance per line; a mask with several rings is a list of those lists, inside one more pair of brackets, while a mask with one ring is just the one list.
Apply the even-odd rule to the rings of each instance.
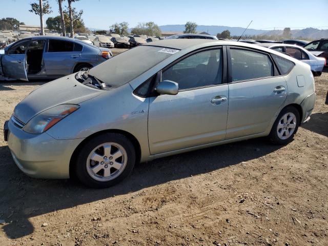
[[259, 46], [267, 47], [269, 49], [282, 52], [290, 55], [291, 57], [303, 61], [303, 63], [311, 66], [311, 71], [314, 76], [320, 76], [325, 66], [326, 60], [323, 57], [317, 57], [310, 51], [297, 45], [288, 44], [259, 44]]

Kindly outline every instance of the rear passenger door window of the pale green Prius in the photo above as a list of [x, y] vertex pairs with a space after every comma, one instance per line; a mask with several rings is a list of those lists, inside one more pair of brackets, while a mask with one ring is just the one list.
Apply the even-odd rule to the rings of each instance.
[[242, 49], [230, 49], [230, 54], [233, 81], [274, 76], [268, 54]]

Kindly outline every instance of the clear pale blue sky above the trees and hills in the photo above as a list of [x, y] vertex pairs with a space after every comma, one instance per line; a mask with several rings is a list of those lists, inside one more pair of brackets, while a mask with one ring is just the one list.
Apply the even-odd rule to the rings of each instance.
[[[0, 18], [14, 17], [27, 25], [39, 25], [39, 18], [28, 10], [33, 0], [2, 0]], [[38, 2], [38, 1], [36, 1]], [[56, 0], [49, 0], [53, 13], [58, 14]], [[116, 4], [117, 3], [117, 4]], [[67, 5], [67, 1], [64, 3]], [[129, 27], [139, 22], [153, 21], [156, 24], [185, 24], [187, 21], [198, 25], [218, 25], [273, 29], [315, 27], [328, 29], [328, 0], [80, 0], [74, 3], [83, 9], [83, 18], [88, 28], [109, 29], [115, 22], [126, 21]]]

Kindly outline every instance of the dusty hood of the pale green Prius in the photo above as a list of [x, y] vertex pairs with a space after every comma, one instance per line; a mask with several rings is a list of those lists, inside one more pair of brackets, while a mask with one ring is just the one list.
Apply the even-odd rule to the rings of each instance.
[[60, 104], [80, 104], [103, 91], [82, 85], [75, 74], [56, 79], [32, 91], [14, 109], [14, 116], [26, 124], [35, 115]]

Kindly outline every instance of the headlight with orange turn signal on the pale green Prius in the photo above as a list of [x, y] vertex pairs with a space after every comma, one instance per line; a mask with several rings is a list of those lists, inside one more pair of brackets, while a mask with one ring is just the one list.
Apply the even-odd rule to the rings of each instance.
[[80, 106], [75, 104], [62, 104], [47, 109], [34, 116], [23, 128], [25, 132], [40, 134], [56, 125], [61, 119], [76, 111]]

